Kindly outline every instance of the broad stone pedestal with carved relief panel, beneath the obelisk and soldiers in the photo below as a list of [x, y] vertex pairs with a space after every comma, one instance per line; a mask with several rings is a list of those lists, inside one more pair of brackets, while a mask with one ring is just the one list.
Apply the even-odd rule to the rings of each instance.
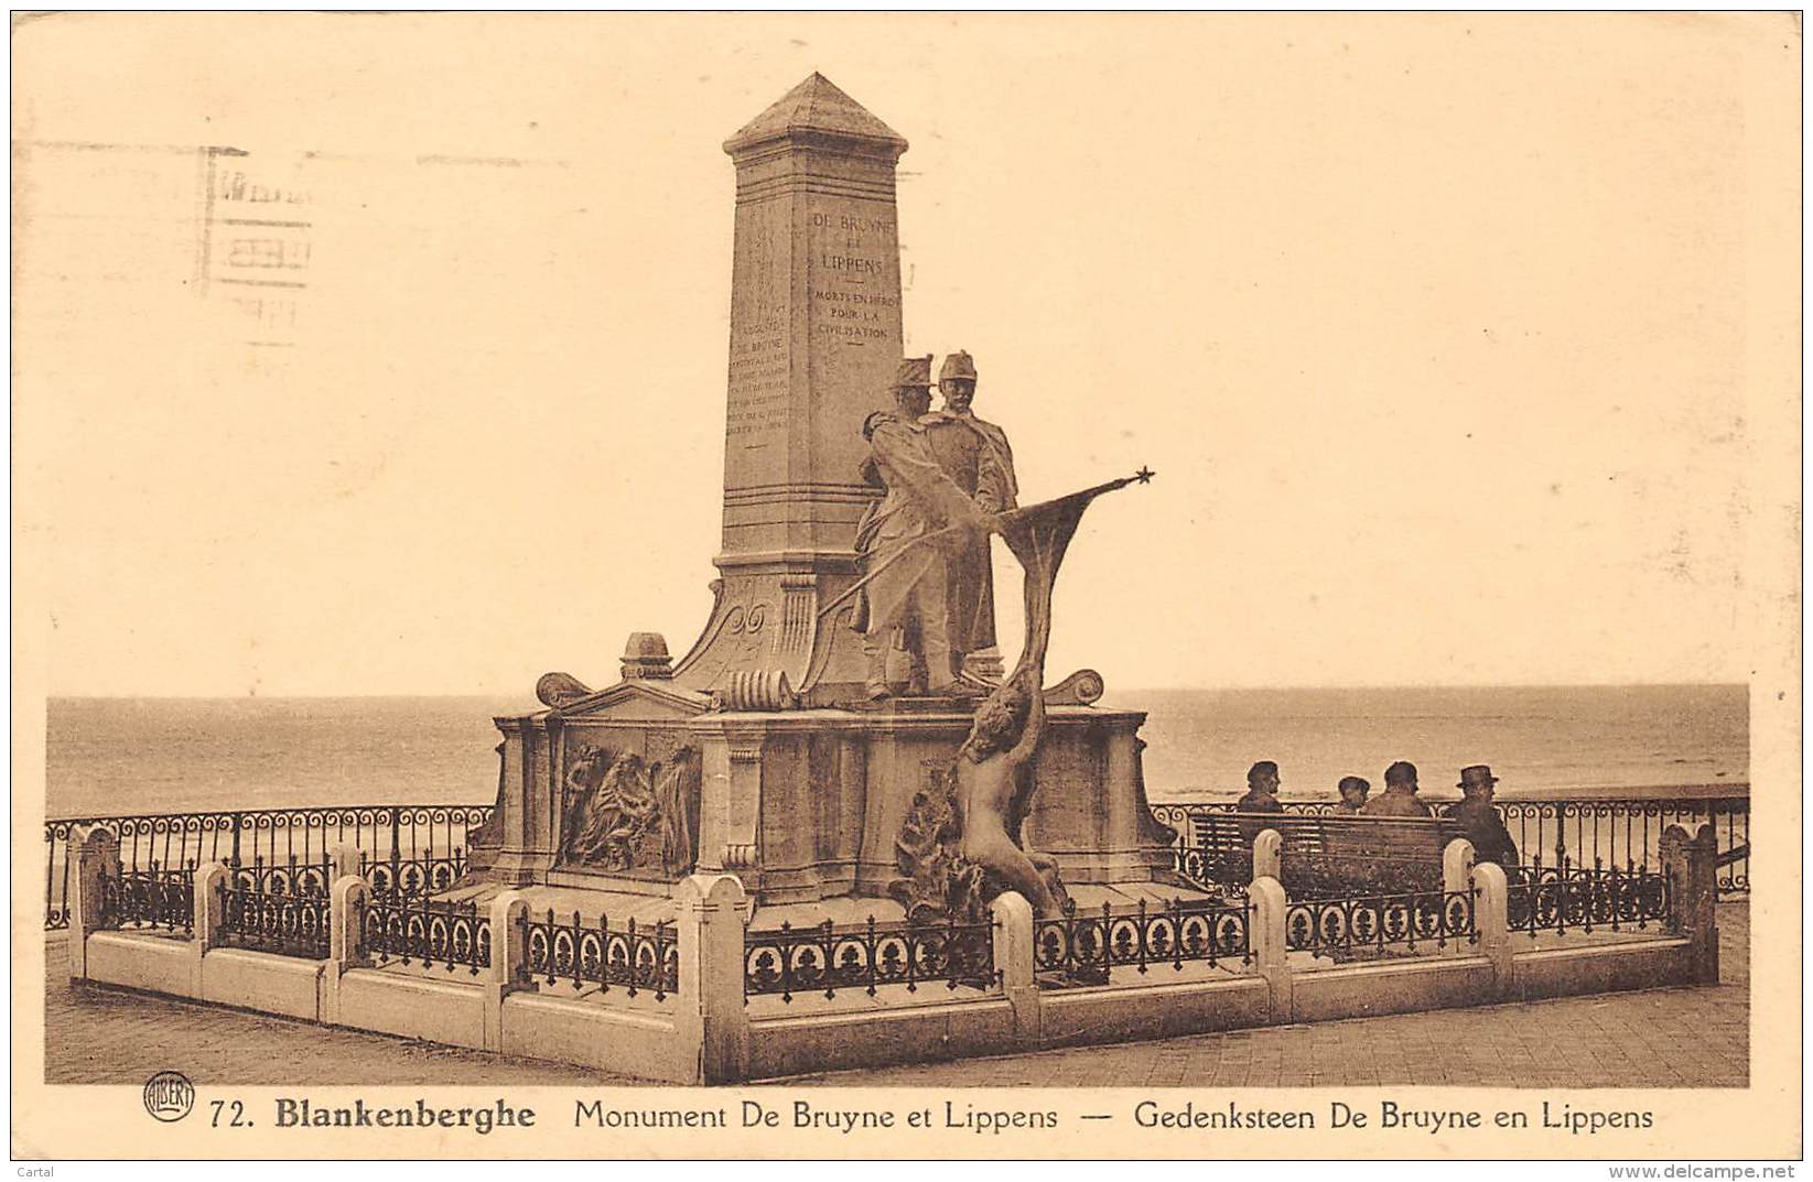
[[[1048, 707], [1023, 836], [1057, 859], [1066, 885], [1177, 883], [1169, 832], [1146, 807], [1144, 720], [1139, 711]], [[738, 876], [760, 905], [887, 897], [903, 877], [894, 843], [914, 796], [937, 790], [972, 723], [945, 700], [731, 712], [700, 694], [624, 682], [499, 720], [502, 823], [495, 856], [480, 850], [479, 861], [490, 865], [486, 877], [513, 885], [665, 894], [696, 870]], [[696, 776], [682, 776], [676, 794], [647, 789], [649, 799], [640, 798], [644, 785], [694, 760]], [[598, 805], [602, 789], [587, 787], [598, 767], [640, 767], [640, 780], [615, 781], [633, 799]], [[600, 821], [600, 809], [616, 812]], [[669, 816], [674, 809], [684, 819]], [[575, 832], [598, 828], [624, 832], [575, 847]], [[680, 863], [662, 861], [649, 838], [673, 830], [689, 836]]]

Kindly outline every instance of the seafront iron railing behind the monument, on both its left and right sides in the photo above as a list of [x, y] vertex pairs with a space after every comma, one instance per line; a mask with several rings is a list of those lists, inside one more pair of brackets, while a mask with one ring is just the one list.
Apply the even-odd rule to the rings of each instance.
[[[1449, 803], [1429, 801], [1438, 810]], [[1331, 814], [1331, 801], [1284, 801], [1285, 812]], [[1153, 816], [1177, 830], [1177, 868], [1200, 883], [1244, 886], [1244, 868], [1207, 848], [1198, 818], [1233, 812], [1233, 801], [1166, 801]], [[1719, 892], [1750, 890], [1750, 785], [1708, 789], [1608, 790], [1498, 801], [1517, 841], [1523, 867], [1655, 870], [1661, 834], [1711, 823], [1719, 839]], [[45, 821], [44, 926], [69, 923], [69, 839], [102, 827], [120, 838], [127, 872], [178, 872], [219, 861], [270, 870], [319, 865], [341, 843], [359, 848], [373, 894], [417, 896], [453, 883], [464, 870], [468, 832], [488, 821], [491, 805], [334, 805], [241, 812], [161, 812]]]

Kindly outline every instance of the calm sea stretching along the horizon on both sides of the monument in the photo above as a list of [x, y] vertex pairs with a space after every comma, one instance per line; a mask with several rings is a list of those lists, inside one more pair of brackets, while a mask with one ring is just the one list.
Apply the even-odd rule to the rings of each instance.
[[[1566, 689], [1126, 691], [1142, 709], [1153, 799], [1246, 789], [1276, 760], [1284, 794], [1374, 785], [1392, 760], [1425, 790], [1490, 763], [1501, 790], [1717, 785], [1748, 780], [1742, 685]], [[53, 698], [49, 816], [363, 801], [490, 801], [491, 698]]]

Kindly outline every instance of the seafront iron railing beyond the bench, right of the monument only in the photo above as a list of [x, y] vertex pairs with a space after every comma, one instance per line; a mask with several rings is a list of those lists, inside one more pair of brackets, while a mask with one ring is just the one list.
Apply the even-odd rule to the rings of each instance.
[[[1452, 801], [1429, 803], [1440, 812]], [[1664, 828], [1681, 825], [1693, 832], [1710, 823], [1719, 838], [1719, 894], [1750, 890], [1750, 785], [1730, 785], [1711, 796], [1682, 789], [1679, 796], [1499, 798], [1496, 807], [1525, 867], [1570, 859], [1659, 870]], [[1287, 799], [1284, 809], [1300, 816], [1329, 816], [1334, 803]], [[1173, 801], [1153, 805], [1151, 812], [1177, 832], [1171, 861], [1178, 874], [1206, 886], [1246, 886], [1251, 861], [1207, 843], [1202, 836], [1206, 827], [1198, 825], [1198, 818], [1235, 812], [1233, 801]]]

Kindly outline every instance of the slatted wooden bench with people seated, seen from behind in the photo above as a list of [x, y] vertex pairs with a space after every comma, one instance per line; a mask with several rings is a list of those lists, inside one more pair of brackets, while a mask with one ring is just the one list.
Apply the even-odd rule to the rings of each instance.
[[1253, 839], [1267, 828], [1282, 838], [1280, 879], [1293, 897], [1440, 890], [1443, 850], [1463, 836], [1449, 818], [1200, 812], [1193, 836], [1207, 877], [1251, 883]]

